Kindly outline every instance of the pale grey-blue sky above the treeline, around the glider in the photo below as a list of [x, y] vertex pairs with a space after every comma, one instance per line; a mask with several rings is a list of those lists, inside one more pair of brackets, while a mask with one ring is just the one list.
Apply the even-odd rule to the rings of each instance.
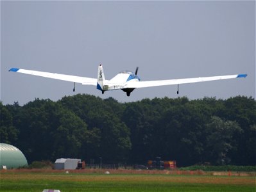
[[[143, 80], [248, 74], [246, 79], [101, 94], [94, 86], [8, 72], [12, 67], [95, 77], [135, 70]], [[1, 100], [26, 104], [89, 93], [255, 98], [255, 1], [1, 1]]]

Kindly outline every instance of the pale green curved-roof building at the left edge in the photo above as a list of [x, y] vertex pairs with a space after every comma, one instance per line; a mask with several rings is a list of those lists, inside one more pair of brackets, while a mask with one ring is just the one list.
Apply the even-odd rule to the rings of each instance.
[[28, 161], [19, 148], [13, 145], [0, 143], [0, 166], [6, 168], [18, 168], [28, 165]]

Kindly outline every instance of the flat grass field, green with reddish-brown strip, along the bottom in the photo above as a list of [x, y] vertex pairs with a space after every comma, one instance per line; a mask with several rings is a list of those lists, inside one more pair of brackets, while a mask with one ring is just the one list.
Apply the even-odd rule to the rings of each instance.
[[255, 176], [105, 171], [2, 170], [0, 191], [256, 191]]

